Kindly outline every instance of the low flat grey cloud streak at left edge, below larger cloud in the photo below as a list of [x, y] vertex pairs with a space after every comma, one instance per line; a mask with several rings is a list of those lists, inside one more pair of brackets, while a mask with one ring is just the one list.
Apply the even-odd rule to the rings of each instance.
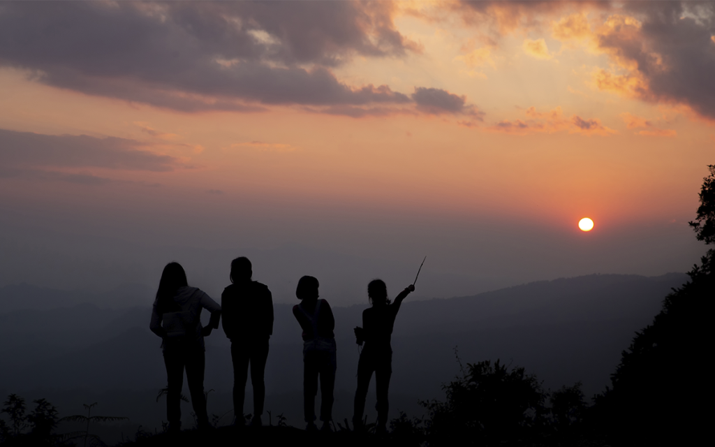
[[0, 164], [5, 167], [100, 167], [112, 170], [171, 171], [175, 157], [141, 149], [116, 137], [44, 135], [0, 129]]

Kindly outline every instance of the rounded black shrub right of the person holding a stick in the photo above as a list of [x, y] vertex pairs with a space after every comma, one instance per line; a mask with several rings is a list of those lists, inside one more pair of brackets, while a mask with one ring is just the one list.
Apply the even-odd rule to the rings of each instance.
[[462, 376], [443, 385], [445, 402], [423, 402], [430, 445], [495, 444], [520, 438], [544, 415], [545, 394], [536, 376], [508, 369], [500, 360], [468, 363]]

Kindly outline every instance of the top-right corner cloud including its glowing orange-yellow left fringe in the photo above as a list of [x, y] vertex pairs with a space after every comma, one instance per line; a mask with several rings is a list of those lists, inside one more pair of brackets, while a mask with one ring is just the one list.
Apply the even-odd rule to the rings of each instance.
[[600, 23], [576, 14], [554, 22], [552, 32], [608, 56], [610, 67], [592, 73], [597, 89], [715, 120], [715, 3], [629, 1]]

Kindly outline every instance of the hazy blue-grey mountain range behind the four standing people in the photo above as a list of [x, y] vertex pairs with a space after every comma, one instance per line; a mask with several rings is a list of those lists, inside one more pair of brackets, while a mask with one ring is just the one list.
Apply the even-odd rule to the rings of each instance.
[[[501, 358], [536, 373], [545, 388], [581, 380], [590, 397], [608, 385], [636, 330], [651, 323], [671, 288], [686, 280], [680, 273], [588, 275], [461, 298], [408, 298], [393, 333], [392, 416], [398, 409], [419, 411], [418, 399], [443, 398], [441, 384], [459, 373], [455, 347], [463, 363]], [[1, 288], [0, 393], [44, 393], [37, 397], [50, 400], [56, 396], [60, 401], [53, 403], [61, 410], [64, 399], [77, 405], [67, 397], [69, 390], [75, 390], [74, 395], [77, 390], [101, 393], [107, 414], [159, 426], [164, 405], [154, 398], [166, 377], [160, 340], [148, 330], [147, 293], [150, 297], [150, 291], [128, 286], [98, 298], [31, 285]], [[126, 306], [134, 301], [142, 305]], [[122, 308], [113, 310], [111, 303], [122, 303]], [[335, 417], [340, 420], [352, 413], [358, 363], [352, 328], [362, 325], [367, 305], [333, 309], [338, 348]], [[302, 353], [291, 307], [275, 305], [267, 409], [283, 411], [291, 423], [300, 423]], [[204, 384], [215, 390], [209, 412], [230, 410], [232, 366], [229, 342], [221, 330], [207, 338]], [[144, 393], [137, 394], [139, 390]], [[127, 396], [143, 397], [134, 402]], [[373, 402], [368, 401], [367, 408], [372, 409], [373, 390], [369, 396]], [[249, 393], [247, 411], [250, 402]], [[189, 407], [185, 410], [188, 415]]]

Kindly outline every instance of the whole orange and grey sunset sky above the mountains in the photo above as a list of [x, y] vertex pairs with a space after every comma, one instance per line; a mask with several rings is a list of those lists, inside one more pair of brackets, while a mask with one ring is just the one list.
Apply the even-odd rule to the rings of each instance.
[[714, 124], [713, 2], [3, 1], [0, 285], [683, 272]]

